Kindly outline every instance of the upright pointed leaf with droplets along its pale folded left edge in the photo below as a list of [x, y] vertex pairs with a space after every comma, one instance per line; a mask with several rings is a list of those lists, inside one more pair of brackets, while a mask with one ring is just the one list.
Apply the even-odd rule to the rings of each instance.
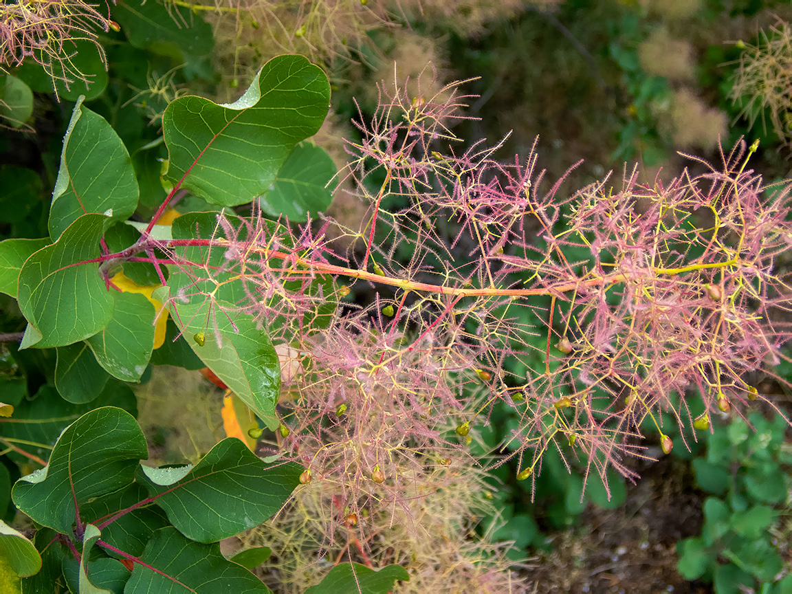
[[138, 182], [124, 143], [107, 120], [74, 104], [55, 189], [52, 190], [49, 230], [57, 239], [71, 223], [88, 212], [128, 219], [138, 207]]

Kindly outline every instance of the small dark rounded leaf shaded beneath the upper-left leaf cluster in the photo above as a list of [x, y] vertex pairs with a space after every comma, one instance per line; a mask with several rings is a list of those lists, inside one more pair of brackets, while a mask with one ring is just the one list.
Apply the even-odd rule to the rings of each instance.
[[107, 385], [107, 371], [97, 363], [85, 342], [58, 347], [55, 387], [63, 399], [74, 404], [93, 402]]

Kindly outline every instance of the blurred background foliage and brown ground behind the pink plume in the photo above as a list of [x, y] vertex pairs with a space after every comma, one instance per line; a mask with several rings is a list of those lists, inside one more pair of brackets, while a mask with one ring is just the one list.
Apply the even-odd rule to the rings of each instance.
[[[31, 15], [48, 27], [25, 26]], [[787, 180], [790, 19], [792, 6], [781, 0], [4, 2], [0, 239], [47, 235], [60, 142], [79, 95], [135, 161], [143, 220], [166, 196], [160, 125], [168, 102], [187, 93], [234, 101], [261, 65], [284, 52], [326, 70], [333, 110], [314, 142], [339, 168], [342, 139], [356, 139], [352, 120], [371, 116], [378, 86], [393, 89], [395, 76], [409, 79], [407, 89], [434, 93], [470, 79], [463, 91], [475, 97], [466, 115], [475, 119], [455, 134], [494, 143], [510, 133], [498, 155], [507, 161], [524, 158], [539, 136], [545, 184], [583, 159], [562, 186], [566, 194], [635, 164], [645, 183], [668, 180], [683, 167], [703, 167], [677, 151], [719, 162], [720, 147], [743, 137], [760, 140], [751, 166], [765, 181]], [[363, 209], [344, 189], [330, 214], [355, 227]], [[177, 208], [200, 203], [191, 198]], [[0, 333], [22, 329], [15, 302], [0, 295]], [[538, 367], [545, 346], [537, 337]], [[524, 375], [516, 366], [509, 371]], [[792, 379], [790, 364], [778, 373]], [[4, 342], [0, 374], [17, 386], [20, 402], [46, 396], [54, 352], [17, 352]], [[218, 395], [194, 371], [155, 369], [144, 380], [135, 387], [137, 408], [155, 454], [197, 459], [216, 439]], [[756, 381], [788, 417], [782, 383]], [[172, 398], [156, 395], [163, 393]], [[175, 394], [190, 394], [189, 406], [174, 407], [185, 402]], [[502, 447], [517, 423], [511, 411], [493, 409], [474, 451]], [[711, 434], [669, 433], [676, 446], [668, 456], [654, 433], [649, 454], [659, 461], [634, 462], [636, 485], [614, 475], [606, 487], [592, 475], [583, 493], [584, 463], [557, 451], [546, 454], [535, 480], [516, 481], [513, 465], [494, 468], [481, 479], [492, 505], [482, 508], [478, 531], [513, 541], [507, 557], [542, 592], [792, 592], [792, 442], [786, 424], [761, 413], [749, 418], [756, 433], [736, 413], [724, 414]], [[7, 520], [14, 510], [4, 493], [20, 470], [9, 455], [0, 461]], [[446, 591], [442, 582], [434, 587]]]

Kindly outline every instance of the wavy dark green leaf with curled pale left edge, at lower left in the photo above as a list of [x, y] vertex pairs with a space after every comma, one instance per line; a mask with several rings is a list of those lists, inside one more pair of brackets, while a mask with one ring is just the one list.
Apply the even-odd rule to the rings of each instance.
[[75, 501], [82, 506], [129, 485], [147, 458], [146, 439], [131, 414], [114, 406], [91, 410], [59, 437], [48, 466], [17, 481], [13, 502], [39, 524], [70, 534]]

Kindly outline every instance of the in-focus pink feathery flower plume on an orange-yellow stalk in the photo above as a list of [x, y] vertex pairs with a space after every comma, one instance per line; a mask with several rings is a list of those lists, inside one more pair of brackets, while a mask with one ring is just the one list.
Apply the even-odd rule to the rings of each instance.
[[[330, 221], [291, 228], [256, 211], [169, 242], [224, 254], [217, 268], [181, 261], [196, 280], [244, 282], [235, 307], [268, 328], [288, 371], [287, 431], [270, 445], [331, 502], [327, 543], [356, 518], [360, 554], [382, 531], [367, 518], [409, 516], [450, 485], [447, 466], [504, 463], [469, 450], [495, 402], [520, 419], [504, 444], [520, 480], [555, 447], [607, 485], [609, 466], [634, 478], [625, 458], [646, 455], [645, 422], [668, 433], [661, 413], [709, 427], [762, 398], [746, 378], [790, 338], [788, 191], [748, 169], [756, 147], [668, 185], [632, 172], [565, 195], [533, 152], [505, 165], [499, 145], [455, 150], [463, 99], [456, 86], [383, 93], [348, 145], [369, 208], [343, 231], [346, 254]], [[348, 287], [374, 291], [371, 303], [345, 306]]]

